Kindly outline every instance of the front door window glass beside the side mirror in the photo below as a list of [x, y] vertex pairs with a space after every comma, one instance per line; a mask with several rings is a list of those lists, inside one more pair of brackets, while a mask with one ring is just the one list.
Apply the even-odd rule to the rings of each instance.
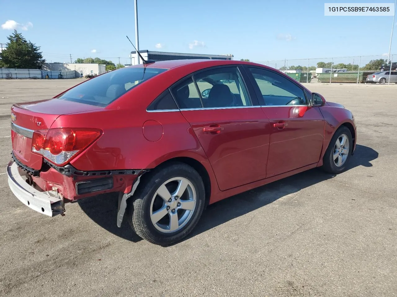
[[266, 69], [249, 67], [266, 105], [307, 105], [303, 89]]

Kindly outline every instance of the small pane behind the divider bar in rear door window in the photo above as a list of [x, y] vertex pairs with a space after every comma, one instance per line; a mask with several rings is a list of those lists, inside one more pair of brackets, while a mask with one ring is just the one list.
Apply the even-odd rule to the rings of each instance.
[[173, 87], [172, 94], [181, 109], [202, 108], [200, 95], [191, 77]]

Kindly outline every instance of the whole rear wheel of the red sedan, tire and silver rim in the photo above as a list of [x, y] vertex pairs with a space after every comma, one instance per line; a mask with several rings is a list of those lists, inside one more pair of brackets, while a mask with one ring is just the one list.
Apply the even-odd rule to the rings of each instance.
[[143, 239], [169, 245], [185, 238], [197, 225], [205, 203], [204, 183], [191, 166], [175, 162], [146, 173], [132, 197], [128, 221]]

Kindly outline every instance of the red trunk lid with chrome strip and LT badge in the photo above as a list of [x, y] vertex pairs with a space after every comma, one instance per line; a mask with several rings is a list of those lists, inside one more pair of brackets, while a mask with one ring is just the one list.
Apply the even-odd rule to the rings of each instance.
[[11, 139], [15, 157], [26, 166], [40, 169], [42, 157], [31, 152], [35, 130], [51, 128], [61, 115], [103, 109], [102, 107], [60, 99], [14, 104], [11, 108]]

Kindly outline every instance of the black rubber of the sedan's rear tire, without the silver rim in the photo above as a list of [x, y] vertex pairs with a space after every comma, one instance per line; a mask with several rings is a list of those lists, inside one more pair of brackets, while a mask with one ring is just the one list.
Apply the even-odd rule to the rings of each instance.
[[[183, 228], [173, 233], [164, 233], [157, 230], [151, 222], [150, 204], [158, 187], [173, 177], [184, 177], [193, 184], [193, 187], [196, 190], [197, 202], [192, 217], [189, 222], [183, 226]], [[136, 199], [142, 199], [140, 208], [134, 208], [133, 211], [139, 211], [141, 227], [145, 232], [145, 239], [156, 244], [170, 244], [187, 236], [187, 234], [189, 234], [197, 225], [205, 203], [204, 183], [202, 182], [200, 175], [191, 166], [183, 163], [173, 164], [158, 170], [158, 172], [154, 173], [154, 175], [152, 175], [152, 177], [147, 181], [145, 187], [141, 191], [141, 195], [139, 196], [141, 197], [137, 197]]]

